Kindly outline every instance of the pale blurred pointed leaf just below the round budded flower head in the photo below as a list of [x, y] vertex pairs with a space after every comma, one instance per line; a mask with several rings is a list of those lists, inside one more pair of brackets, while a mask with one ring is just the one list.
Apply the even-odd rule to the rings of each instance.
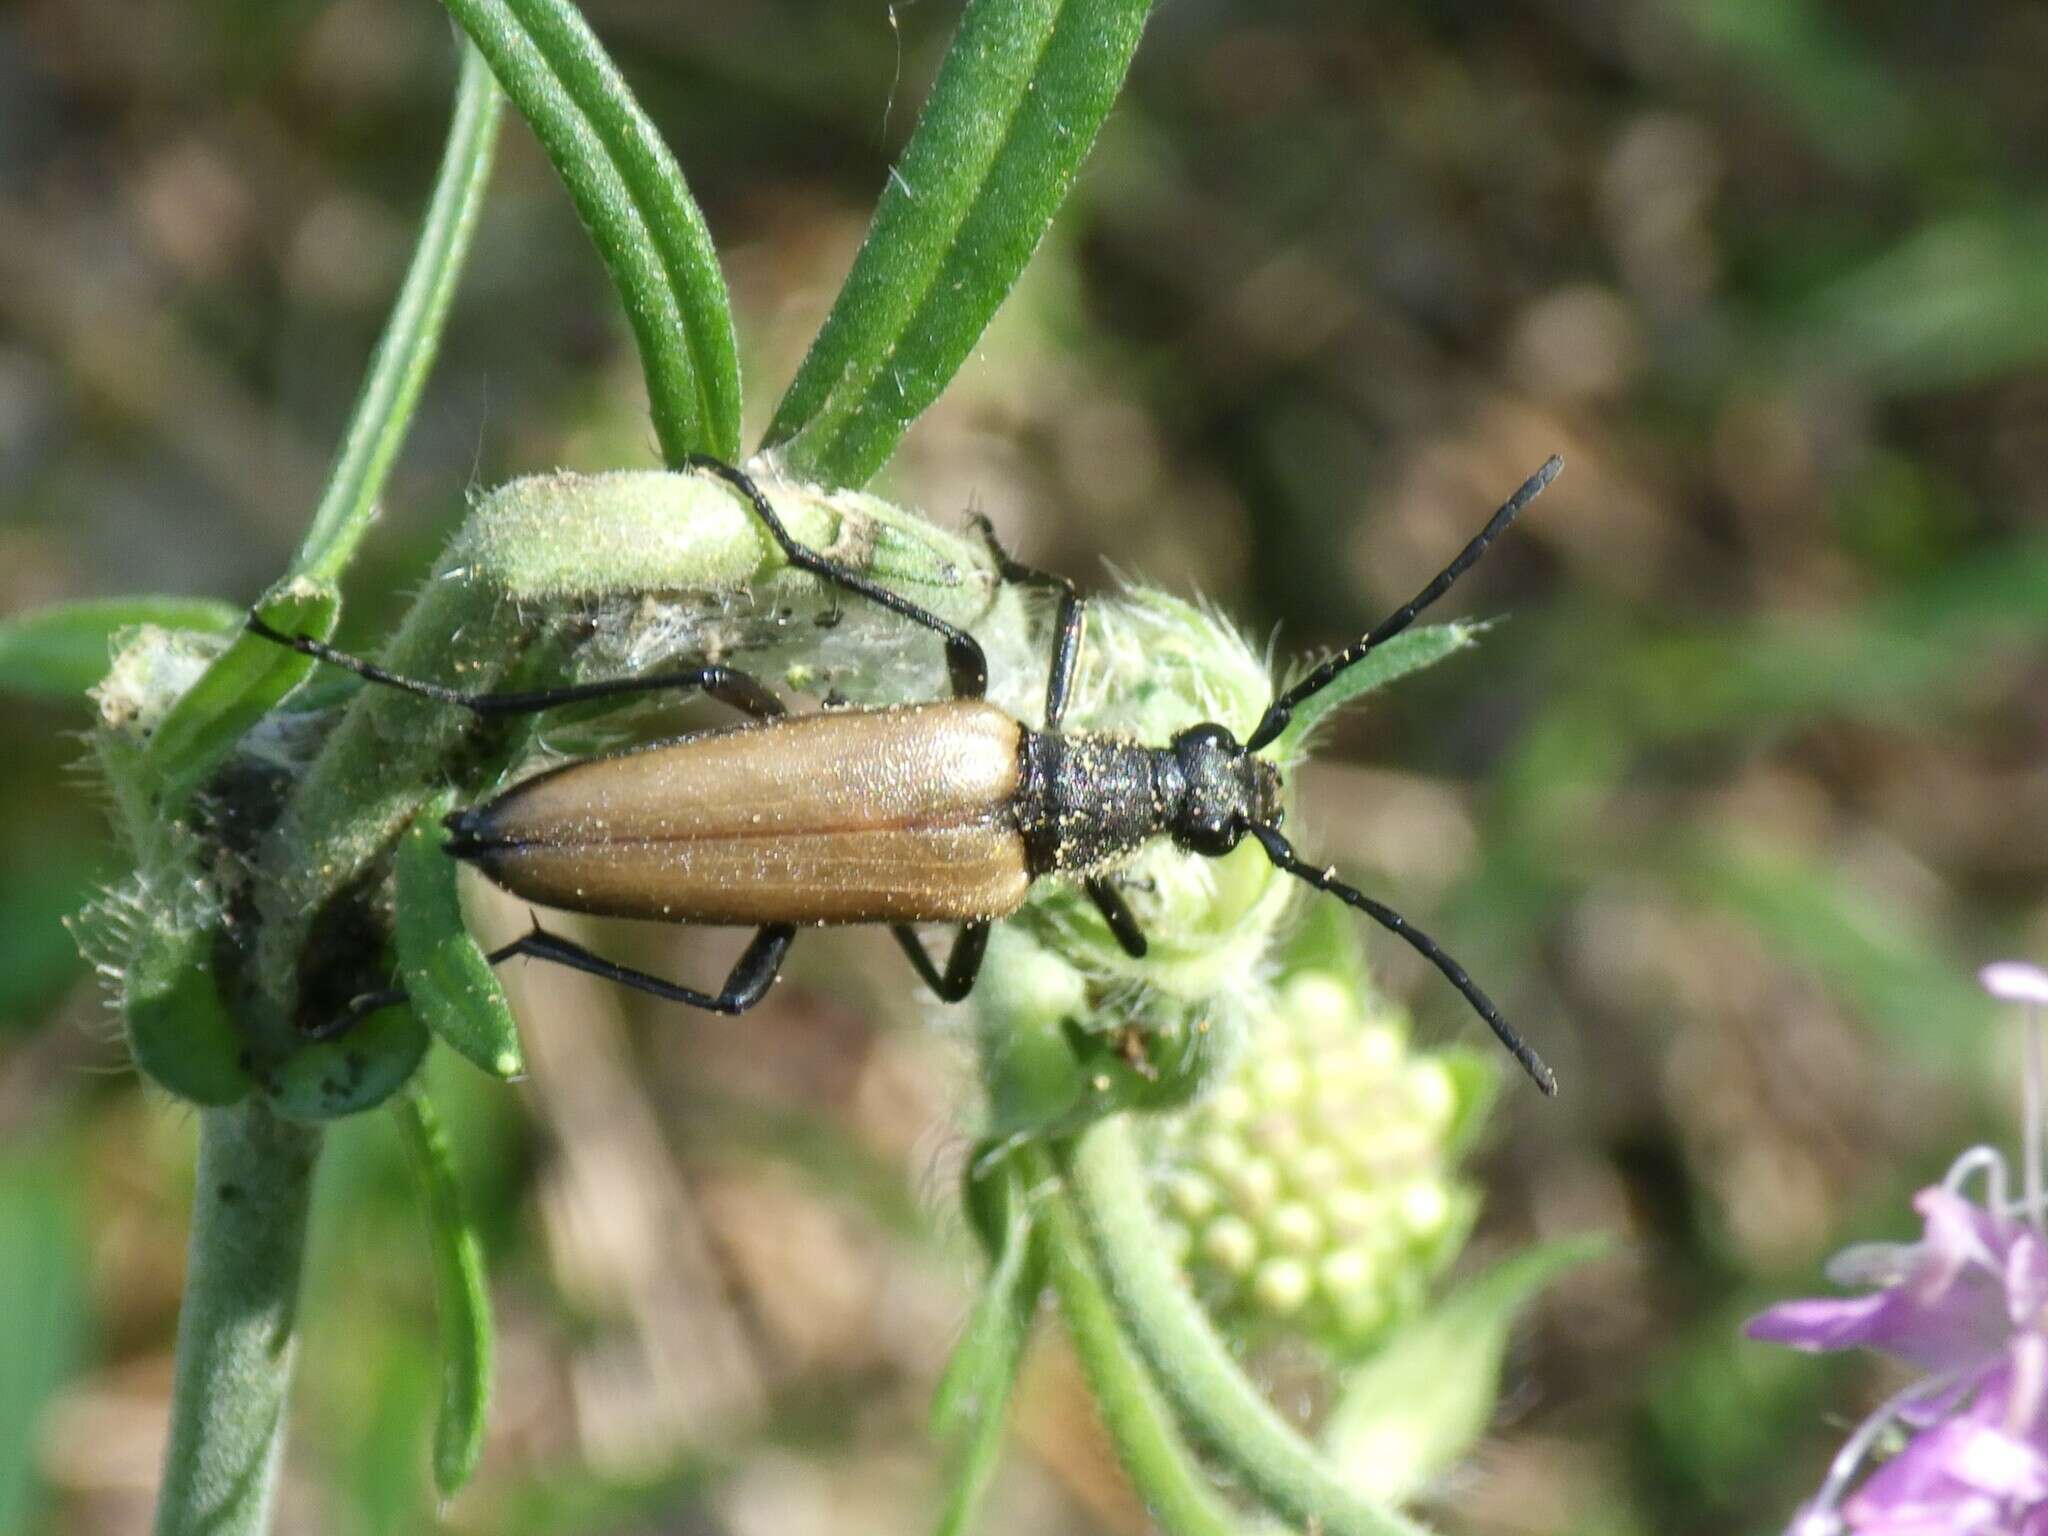
[[1401, 1503], [1454, 1466], [1501, 1401], [1516, 1315], [1550, 1280], [1599, 1257], [1602, 1237], [1563, 1237], [1466, 1282], [1343, 1378], [1323, 1450], [1362, 1493]]

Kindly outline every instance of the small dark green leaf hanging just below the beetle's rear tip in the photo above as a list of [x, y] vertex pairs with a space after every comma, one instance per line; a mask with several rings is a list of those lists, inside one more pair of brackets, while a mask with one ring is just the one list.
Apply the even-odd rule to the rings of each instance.
[[397, 846], [397, 971], [434, 1036], [492, 1077], [520, 1077], [518, 1024], [498, 973], [463, 924], [457, 862], [442, 817], [455, 793], [426, 803]]

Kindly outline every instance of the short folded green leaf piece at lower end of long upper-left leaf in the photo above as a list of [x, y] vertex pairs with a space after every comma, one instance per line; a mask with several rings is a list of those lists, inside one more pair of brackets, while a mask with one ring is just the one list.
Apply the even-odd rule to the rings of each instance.
[[[293, 578], [256, 604], [264, 623], [285, 635], [334, 633], [340, 596], [330, 582]], [[297, 688], [313, 662], [256, 635], [240, 635], [199, 682], [170, 707], [150, 739], [147, 776], [160, 786], [160, 809], [174, 817], [242, 733]]]

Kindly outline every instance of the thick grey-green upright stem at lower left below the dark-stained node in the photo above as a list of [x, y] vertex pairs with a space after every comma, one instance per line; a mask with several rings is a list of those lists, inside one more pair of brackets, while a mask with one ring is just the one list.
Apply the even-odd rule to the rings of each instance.
[[158, 1536], [268, 1528], [317, 1155], [317, 1130], [260, 1102], [199, 1116]]

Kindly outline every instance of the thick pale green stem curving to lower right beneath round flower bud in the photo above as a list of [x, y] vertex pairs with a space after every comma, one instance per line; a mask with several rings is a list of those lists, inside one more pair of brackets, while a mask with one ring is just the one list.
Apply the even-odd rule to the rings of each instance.
[[1327, 1536], [1423, 1536], [1421, 1526], [1343, 1483], [1239, 1370], [1182, 1282], [1147, 1204], [1149, 1180], [1126, 1116], [1059, 1143], [1055, 1157], [1120, 1327], [1210, 1454], [1300, 1526]]

